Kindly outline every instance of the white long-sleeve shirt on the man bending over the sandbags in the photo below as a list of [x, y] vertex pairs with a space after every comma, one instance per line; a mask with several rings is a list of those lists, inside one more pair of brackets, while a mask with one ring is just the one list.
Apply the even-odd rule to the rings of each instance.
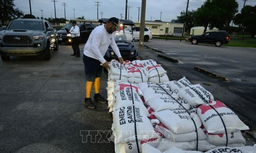
[[106, 62], [104, 55], [111, 46], [117, 57], [121, 57], [120, 51], [115, 43], [114, 34], [109, 34], [104, 25], [96, 27], [90, 34], [84, 47], [84, 54], [99, 60], [102, 64]]

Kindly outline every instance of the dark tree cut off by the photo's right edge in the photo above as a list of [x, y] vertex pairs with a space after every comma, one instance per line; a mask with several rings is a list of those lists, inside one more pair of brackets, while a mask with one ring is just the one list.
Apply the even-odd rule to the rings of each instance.
[[254, 37], [256, 35], [256, 5], [254, 7], [245, 6], [241, 13], [234, 17], [234, 24], [241, 24], [242, 27], [249, 29], [251, 36]]

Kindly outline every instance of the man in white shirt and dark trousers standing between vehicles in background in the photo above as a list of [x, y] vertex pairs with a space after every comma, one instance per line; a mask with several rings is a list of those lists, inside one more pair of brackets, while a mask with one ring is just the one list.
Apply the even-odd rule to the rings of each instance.
[[76, 21], [73, 21], [72, 25], [73, 27], [69, 31], [72, 38], [72, 49], [74, 51], [72, 56], [80, 57], [80, 49], [79, 49], [80, 29], [78, 26], [76, 26]]

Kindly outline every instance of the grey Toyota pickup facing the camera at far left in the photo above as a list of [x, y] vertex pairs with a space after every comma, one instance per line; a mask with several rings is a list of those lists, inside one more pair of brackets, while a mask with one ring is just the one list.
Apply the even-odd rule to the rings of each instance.
[[3, 61], [20, 55], [42, 55], [50, 60], [50, 49], [59, 50], [57, 31], [47, 20], [15, 19], [2, 29], [0, 55]]

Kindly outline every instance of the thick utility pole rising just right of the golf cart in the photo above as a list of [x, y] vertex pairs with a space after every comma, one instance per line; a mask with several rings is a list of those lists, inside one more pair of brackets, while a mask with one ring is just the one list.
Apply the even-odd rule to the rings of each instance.
[[144, 28], [145, 28], [146, 0], [141, 2], [141, 25], [139, 31], [139, 49], [144, 48]]

